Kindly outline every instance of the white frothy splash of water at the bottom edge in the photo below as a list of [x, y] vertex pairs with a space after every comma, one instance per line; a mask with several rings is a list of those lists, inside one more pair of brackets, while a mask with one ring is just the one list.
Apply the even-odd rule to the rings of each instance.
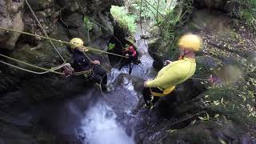
[[104, 102], [98, 102], [86, 112], [78, 136], [86, 144], [134, 144], [124, 128], [116, 122], [117, 115]]

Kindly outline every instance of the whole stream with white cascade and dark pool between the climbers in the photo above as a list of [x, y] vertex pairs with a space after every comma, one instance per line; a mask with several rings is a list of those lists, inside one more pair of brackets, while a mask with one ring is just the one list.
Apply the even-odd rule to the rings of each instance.
[[[138, 26], [139, 27], [139, 26]], [[142, 86], [134, 78], [154, 78], [153, 59], [148, 54], [141, 30], [134, 34], [141, 64], [134, 65], [131, 75], [128, 66], [112, 68], [108, 74], [110, 91], [102, 94], [92, 87], [85, 94], [44, 108], [43, 122], [65, 139], [76, 139], [85, 144], [134, 144], [134, 126], [138, 116], [132, 111], [138, 106]], [[50, 115], [49, 115], [50, 114]], [[51, 115], [52, 114], [52, 115]]]

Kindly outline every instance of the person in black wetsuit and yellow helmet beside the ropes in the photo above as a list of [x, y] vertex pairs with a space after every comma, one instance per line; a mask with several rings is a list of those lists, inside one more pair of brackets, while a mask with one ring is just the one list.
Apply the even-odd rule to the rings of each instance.
[[70, 50], [73, 51], [73, 65], [75, 72], [89, 71], [89, 75], [85, 75], [92, 82], [97, 82], [101, 84], [102, 90], [106, 90], [107, 74], [100, 66], [98, 60], [91, 60], [86, 56], [85, 52], [89, 51], [83, 46], [84, 42], [80, 38], [72, 38], [70, 40]]

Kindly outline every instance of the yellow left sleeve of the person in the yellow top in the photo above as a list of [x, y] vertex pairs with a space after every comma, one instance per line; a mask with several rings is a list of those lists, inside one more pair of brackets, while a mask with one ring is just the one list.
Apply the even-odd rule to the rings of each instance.
[[177, 69], [176, 66], [171, 67], [169, 70], [166, 70], [164, 74], [162, 74], [160, 77], [155, 78], [152, 81], [146, 82], [146, 86], [148, 87], [162, 87], [166, 85], [174, 85], [178, 81], [181, 80], [183, 77], [183, 74], [181, 71]]

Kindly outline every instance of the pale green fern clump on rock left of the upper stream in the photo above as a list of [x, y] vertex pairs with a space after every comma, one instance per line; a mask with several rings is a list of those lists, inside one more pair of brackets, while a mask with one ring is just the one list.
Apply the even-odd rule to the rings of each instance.
[[135, 32], [135, 15], [128, 14], [128, 12], [124, 9], [123, 6], [111, 6], [110, 13], [118, 21], [122, 28], [124, 28], [125, 30], [129, 30], [130, 32]]

